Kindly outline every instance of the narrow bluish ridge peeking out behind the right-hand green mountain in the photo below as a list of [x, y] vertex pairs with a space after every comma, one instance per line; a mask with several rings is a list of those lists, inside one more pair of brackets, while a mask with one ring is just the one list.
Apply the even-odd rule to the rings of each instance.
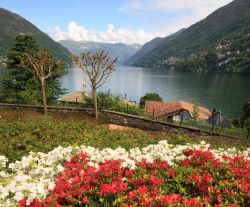
[[[185, 29], [181, 29], [178, 32], [168, 36], [167, 38], [174, 37], [175, 35], [178, 35], [181, 32], [183, 32], [184, 30]], [[164, 40], [164, 38], [157, 37], [157, 38], [154, 38], [151, 41], [147, 42], [145, 45], [143, 45], [143, 47], [137, 53], [135, 53], [132, 57], [130, 57], [125, 62], [125, 65], [131, 65], [134, 62], [136, 62], [137, 60], [139, 60], [140, 58], [142, 58], [143, 56], [147, 55], [150, 51], [152, 51], [154, 48], [156, 48], [158, 45], [160, 45], [160, 43], [163, 40]]]

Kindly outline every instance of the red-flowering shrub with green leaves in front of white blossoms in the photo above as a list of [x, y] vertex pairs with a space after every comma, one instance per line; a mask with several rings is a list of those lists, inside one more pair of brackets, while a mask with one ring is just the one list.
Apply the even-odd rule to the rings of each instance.
[[[80, 153], [65, 164], [55, 187], [37, 206], [249, 206], [249, 161], [243, 157], [216, 158], [202, 149], [185, 150], [186, 156], [171, 166], [146, 159], [135, 169], [121, 160], [89, 165]], [[19, 202], [26, 207], [25, 198]]]

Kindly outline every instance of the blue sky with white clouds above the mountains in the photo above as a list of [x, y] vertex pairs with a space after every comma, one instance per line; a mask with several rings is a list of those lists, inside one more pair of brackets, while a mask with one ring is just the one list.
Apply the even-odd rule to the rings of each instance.
[[204, 19], [232, 0], [0, 0], [54, 40], [144, 44]]

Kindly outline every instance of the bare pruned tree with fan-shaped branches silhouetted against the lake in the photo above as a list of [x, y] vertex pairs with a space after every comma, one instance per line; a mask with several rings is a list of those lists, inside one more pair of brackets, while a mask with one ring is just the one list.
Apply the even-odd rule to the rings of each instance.
[[98, 120], [98, 107], [96, 90], [101, 87], [115, 70], [117, 58], [111, 58], [104, 50], [91, 54], [81, 53], [80, 57], [74, 56], [74, 63], [88, 76], [88, 84], [92, 88], [95, 117]]

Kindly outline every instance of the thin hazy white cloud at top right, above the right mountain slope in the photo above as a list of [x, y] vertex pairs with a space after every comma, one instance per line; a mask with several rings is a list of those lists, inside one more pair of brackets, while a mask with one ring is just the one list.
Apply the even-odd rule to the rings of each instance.
[[165, 36], [187, 28], [204, 19], [216, 9], [232, 2], [233, 0], [128, 0], [121, 7], [127, 14], [164, 13], [165, 19], [157, 31]]

